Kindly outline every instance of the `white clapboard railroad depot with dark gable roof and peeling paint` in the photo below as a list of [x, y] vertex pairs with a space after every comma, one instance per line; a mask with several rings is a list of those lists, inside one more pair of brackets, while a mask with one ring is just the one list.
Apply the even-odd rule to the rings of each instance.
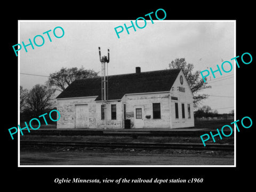
[[[77, 79], [57, 97], [57, 129], [103, 129], [101, 77]], [[107, 129], [194, 127], [193, 93], [181, 69], [108, 76]]]

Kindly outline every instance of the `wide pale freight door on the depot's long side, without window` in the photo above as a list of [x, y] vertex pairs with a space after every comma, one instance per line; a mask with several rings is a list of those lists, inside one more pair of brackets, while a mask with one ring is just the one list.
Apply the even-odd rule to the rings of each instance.
[[76, 119], [75, 127], [76, 128], [85, 128], [88, 127], [88, 104], [76, 105]]

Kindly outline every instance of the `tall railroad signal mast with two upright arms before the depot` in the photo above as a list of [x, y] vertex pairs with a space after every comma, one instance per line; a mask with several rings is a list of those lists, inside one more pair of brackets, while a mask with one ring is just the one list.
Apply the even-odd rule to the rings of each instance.
[[[107, 100], [108, 98], [106, 97], [106, 91], [108, 87], [108, 80], [106, 80], [106, 63], [108, 67], [109, 63], [109, 49], [108, 49], [108, 57], [107, 56], [102, 56], [100, 54], [100, 47], [99, 47], [99, 55], [100, 55], [100, 62], [101, 62], [101, 101], [102, 101], [102, 106], [104, 109], [104, 129], [107, 129]], [[108, 78], [108, 70], [107, 70], [107, 78]], [[106, 86], [107, 83], [107, 86]]]

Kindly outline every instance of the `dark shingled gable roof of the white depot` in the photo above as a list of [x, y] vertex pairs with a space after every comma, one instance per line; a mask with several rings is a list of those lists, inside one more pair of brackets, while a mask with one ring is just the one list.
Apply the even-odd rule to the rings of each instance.
[[[108, 100], [122, 99], [124, 94], [170, 91], [181, 69], [166, 69], [108, 76]], [[57, 99], [98, 96], [101, 100], [101, 77], [77, 79]]]

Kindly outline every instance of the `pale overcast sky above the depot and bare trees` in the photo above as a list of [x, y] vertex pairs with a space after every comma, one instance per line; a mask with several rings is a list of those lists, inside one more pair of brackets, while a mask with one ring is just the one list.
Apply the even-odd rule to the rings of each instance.
[[[169, 63], [176, 58], [185, 58], [187, 63], [192, 63], [193, 71], [210, 67], [216, 70], [217, 65], [221, 67], [223, 61], [230, 61], [236, 56], [234, 21], [154, 20], [151, 23], [147, 20], [145, 28], [135, 26], [136, 31], [130, 28], [130, 34], [124, 29], [118, 38], [114, 28], [124, 27], [124, 23], [127, 27], [131, 26], [130, 20], [19, 21], [18, 43], [27, 45], [28, 39], [33, 42], [36, 35], [42, 35], [45, 41], [42, 46], [34, 45], [34, 50], [27, 46], [27, 52], [24, 47], [18, 52], [20, 85], [30, 90], [36, 84], [45, 84], [45, 76], [62, 67], [83, 66], [100, 72], [99, 46], [101, 55], [107, 55], [107, 49], [110, 49], [109, 75], [135, 73], [135, 67], [141, 67], [141, 72], [168, 69]], [[135, 21], [133, 23], [135, 25]], [[139, 26], [144, 24], [143, 20], [138, 22]], [[58, 26], [65, 31], [61, 38], [53, 35], [53, 29]], [[49, 30], [52, 42], [47, 34], [43, 34]], [[55, 33], [57, 36], [62, 35], [59, 28]], [[36, 43], [42, 44], [40, 37], [36, 38]], [[222, 71], [222, 76], [215, 73], [215, 79], [212, 75], [208, 77], [207, 82], [212, 88], [198, 93], [209, 94], [210, 97], [199, 107], [208, 105], [219, 113], [229, 113], [234, 109], [235, 65], [234, 60], [230, 62], [233, 63], [230, 73]], [[224, 68], [230, 69], [228, 65]]]

